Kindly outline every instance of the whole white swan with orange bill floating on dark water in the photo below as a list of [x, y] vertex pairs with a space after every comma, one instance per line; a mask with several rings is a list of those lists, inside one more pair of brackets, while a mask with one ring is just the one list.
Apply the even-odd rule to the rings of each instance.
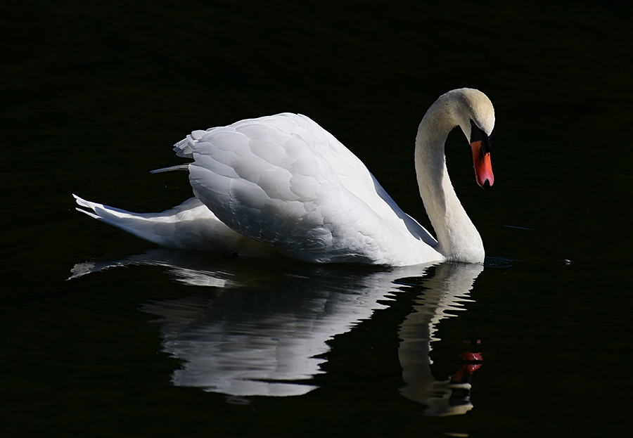
[[475, 179], [494, 182], [494, 108], [475, 89], [443, 94], [424, 115], [415, 167], [434, 238], [404, 213], [361, 160], [305, 115], [282, 113], [193, 131], [174, 145], [194, 197], [161, 213], [136, 214], [73, 195], [77, 210], [165, 247], [231, 255], [285, 255], [314, 263], [409, 266], [482, 263], [482, 239], [456, 196], [445, 141], [460, 127]]

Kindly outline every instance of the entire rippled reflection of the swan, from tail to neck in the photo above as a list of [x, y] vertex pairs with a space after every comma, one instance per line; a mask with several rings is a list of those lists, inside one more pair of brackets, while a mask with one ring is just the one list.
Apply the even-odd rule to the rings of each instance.
[[[165, 266], [188, 285], [211, 285], [208, 292], [151, 302], [143, 311], [160, 316], [162, 349], [177, 359], [175, 385], [230, 395], [300, 395], [316, 387], [315, 375], [329, 350], [328, 340], [351, 330], [397, 290], [422, 285], [414, 311], [399, 329], [400, 392], [428, 406], [428, 415], [451, 415], [471, 408], [465, 387], [431, 374], [431, 342], [437, 325], [463, 309], [482, 271], [480, 264], [445, 263], [426, 267], [366, 270], [277, 264], [239, 264], [205, 253], [153, 250], [120, 262], [77, 264], [73, 278], [108, 267]], [[214, 266], [210, 268], [209, 266]], [[270, 267], [273, 266], [273, 269]], [[200, 290], [197, 288], [196, 290]], [[456, 397], [456, 390], [464, 394]]]

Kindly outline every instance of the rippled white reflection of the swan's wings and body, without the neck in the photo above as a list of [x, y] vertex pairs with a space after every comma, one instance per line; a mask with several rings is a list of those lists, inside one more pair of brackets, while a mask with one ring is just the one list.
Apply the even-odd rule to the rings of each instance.
[[236, 396], [300, 395], [316, 387], [310, 380], [322, 373], [328, 340], [385, 308], [380, 301], [392, 299], [394, 278], [425, 269], [302, 266], [262, 289], [233, 283], [230, 291], [153, 302], [143, 310], [162, 317], [163, 350], [184, 359], [175, 385]]

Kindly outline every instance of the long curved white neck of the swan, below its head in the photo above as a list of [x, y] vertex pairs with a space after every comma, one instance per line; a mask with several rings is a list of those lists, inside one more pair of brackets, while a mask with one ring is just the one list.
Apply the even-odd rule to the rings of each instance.
[[446, 168], [444, 145], [459, 124], [459, 108], [442, 96], [426, 112], [416, 136], [416, 174], [424, 207], [437, 234], [437, 250], [456, 262], [484, 259], [481, 237], [455, 194]]

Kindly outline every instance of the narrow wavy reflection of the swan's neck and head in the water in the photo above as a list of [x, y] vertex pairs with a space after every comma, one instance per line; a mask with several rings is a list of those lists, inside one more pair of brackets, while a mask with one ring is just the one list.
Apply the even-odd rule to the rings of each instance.
[[435, 276], [424, 282], [428, 287], [416, 300], [414, 311], [407, 316], [399, 330], [401, 339], [398, 357], [405, 382], [400, 392], [407, 399], [428, 406], [429, 416], [447, 416], [465, 413], [472, 408], [468, 396], [451, 399], [450, 380], [436, 380], [431, 374], [430, 342], [439, 341], [433, 334], [437, 323], [454, 316], [447, 311], [463, 310], [462, 303], [471, 301], [468, 292], [475, 278], [483, 270], [480, 264], [441, 264]]

